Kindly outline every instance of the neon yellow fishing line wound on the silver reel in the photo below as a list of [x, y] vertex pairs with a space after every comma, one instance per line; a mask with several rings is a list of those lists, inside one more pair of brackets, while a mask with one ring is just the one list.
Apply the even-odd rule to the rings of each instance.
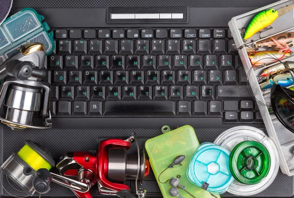
[[52, 168], [48, 161], [42, 158], [42, 156], [40, 156], [27, 144], [25, 144], [25, 146], [17, 153], [17, 155], [22, 158], [32, 169], [34, 169], [34, 171], [37, 171], [40, 168], [46, 168], [47, 170]]

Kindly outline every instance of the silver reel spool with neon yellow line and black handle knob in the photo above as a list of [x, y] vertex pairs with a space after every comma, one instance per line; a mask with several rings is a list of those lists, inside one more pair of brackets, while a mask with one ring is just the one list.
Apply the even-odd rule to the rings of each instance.
[[16, 183], [26, 194], [33, 196], [36, 192], [46, 193], [50, 190], [49, 182], [40, 181], [36, 172], [40, 169], [50, 170], [55, 166], [51, 153], [41, 145], [30, 140], [0, 166], [0, 171]]

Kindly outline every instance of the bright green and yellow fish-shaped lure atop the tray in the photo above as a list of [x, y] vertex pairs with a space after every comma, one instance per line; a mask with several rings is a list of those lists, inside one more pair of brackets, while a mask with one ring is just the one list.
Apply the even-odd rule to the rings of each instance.
[[246, 40], [251, 38], [255, 33], [269, 26], [278, 17], [278, 12], [275, 9], [264, 10], [257, 13], [248, 23], [243, 39]]

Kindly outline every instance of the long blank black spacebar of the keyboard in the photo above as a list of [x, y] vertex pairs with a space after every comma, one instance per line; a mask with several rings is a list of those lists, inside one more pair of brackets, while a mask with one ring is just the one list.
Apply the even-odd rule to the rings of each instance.
[[106, 116], [172, 116], [173, 101], [105, 101]]

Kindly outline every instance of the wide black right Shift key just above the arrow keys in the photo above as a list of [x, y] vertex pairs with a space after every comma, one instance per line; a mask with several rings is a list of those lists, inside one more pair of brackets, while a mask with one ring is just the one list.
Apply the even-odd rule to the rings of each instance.
[[216, 99], [252, 99], [246, 85], [221, 85], [217, 87], [216, 91]]

